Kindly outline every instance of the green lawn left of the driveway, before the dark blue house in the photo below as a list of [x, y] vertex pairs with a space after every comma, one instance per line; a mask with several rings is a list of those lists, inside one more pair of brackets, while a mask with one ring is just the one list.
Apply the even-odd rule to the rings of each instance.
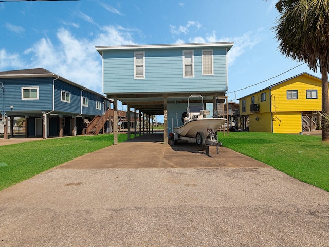
[[[134, 138], [133, 134], [131, 138]], [[118, 134], [118, 142], [125, 140], [126, 134]], [[0, 146], [0, 190], [113, 143], [113, 134], [106, 134]]]

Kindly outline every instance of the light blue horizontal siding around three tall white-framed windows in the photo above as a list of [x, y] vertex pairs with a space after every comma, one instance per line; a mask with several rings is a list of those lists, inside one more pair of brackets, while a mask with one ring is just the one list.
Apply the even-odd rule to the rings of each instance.
[[[134, 51], [104, 51], [103, 91], [120, 93], [224, 92], [227, 90], [226, 49], [213, 48], [214, 75], [202, 75], [202, 50], [194, 49], [194, 78], [183, 78], [184, 49], [147, 49], [145, 79], [134, 79]], [[190, 50], [190, 49], [189, 49]]]

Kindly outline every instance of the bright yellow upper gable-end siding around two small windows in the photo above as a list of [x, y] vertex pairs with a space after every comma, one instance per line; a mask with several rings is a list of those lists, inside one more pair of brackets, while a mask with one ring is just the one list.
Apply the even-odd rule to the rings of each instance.
[[[298, 99], [287, 99], [287, 90], [298, 90]], [[317, 90], [317, 99], [306, 99], [306, 90]], [[273, 86], [271, 90], [272, 111], [321, 111], [321, 80], [301, 75], [286, 82]]]

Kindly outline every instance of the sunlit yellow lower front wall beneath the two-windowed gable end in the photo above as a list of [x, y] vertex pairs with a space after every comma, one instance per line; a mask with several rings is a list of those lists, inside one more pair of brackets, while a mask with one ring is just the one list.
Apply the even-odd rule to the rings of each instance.
[[277, 112], [273, 116], [273, 133], [295, 133], [302, 131], [300, 112]]

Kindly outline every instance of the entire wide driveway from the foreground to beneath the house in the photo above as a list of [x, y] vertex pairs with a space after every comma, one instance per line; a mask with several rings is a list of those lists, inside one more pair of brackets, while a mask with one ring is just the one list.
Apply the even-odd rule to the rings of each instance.
[[[0, 246], [329, 246], [329, 194], [145, 135], [0, 191]], [[224, 144], [225, 146], [225, 144]]]

